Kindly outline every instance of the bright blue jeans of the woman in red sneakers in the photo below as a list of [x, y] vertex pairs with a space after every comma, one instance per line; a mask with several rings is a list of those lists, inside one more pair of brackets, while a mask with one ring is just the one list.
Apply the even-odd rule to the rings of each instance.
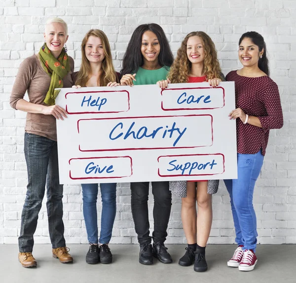
[[256, 154], [237, 154], [237, 179], [224, 180], [230, 196], [235, 242], [256, 251], [257, 220], [253, 207], [255, 182], [263, 164], [261, 150]]

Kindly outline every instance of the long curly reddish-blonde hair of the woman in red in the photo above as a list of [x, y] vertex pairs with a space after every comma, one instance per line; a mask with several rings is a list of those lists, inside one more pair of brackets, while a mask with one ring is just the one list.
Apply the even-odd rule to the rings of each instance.
[[207, 77], [207, 80], [214, 78], [222, 79], [221, 68], [217, 59], [217, 50], [213, 40], [204, 32], [191, 32], [182, 41], [181, 47], [177, 52], [177, 57], [171, 66], [168, 78], [172, 83], [188, 81], [192, 64], [187, 57], [187, 41], [190, 37], [194, 36], [200, 37], [203, 42], [205, 52], [203, 74]]

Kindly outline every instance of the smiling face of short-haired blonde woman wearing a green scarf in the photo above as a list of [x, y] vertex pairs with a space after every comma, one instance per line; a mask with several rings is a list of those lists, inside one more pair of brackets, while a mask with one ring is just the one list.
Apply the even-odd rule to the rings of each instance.
[[43, 36], [48, 49], [51, 51], [53, 56], [58, 58], [68, 40], [65, 26], [62, 23], [52, 22], [46, 25]]

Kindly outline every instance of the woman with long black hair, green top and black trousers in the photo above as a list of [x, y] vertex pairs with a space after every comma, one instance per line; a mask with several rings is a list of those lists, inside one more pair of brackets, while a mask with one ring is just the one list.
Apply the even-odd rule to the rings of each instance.
[[[162, 28], [157, 24], [140, 25], [128, 43], [121, 70], [121, 85], [154, 84], [165, 80], [173, 63], [173, 55]], [[162, 263], [172, 262], [164, 242], [172, 206], [169, 182], [152, 182], [154, 197], [154, 231], [149, 236], [149, 182], [131, 183], [131, 206], [135, 230], [140, 243], [139, 262], [152, 264], [153, 256]], [[153, 251], [152, 251], [153, 250]]]

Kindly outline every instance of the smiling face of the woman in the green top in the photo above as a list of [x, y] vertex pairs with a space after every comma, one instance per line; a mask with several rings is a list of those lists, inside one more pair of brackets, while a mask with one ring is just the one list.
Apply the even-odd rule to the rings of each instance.
[[151, 31], [146, 31], [142, 36], [141, 53], [143, 55], [144, 64], [155, 62], [158, 60], [160, 52], [160, 44], [157, 36]]

